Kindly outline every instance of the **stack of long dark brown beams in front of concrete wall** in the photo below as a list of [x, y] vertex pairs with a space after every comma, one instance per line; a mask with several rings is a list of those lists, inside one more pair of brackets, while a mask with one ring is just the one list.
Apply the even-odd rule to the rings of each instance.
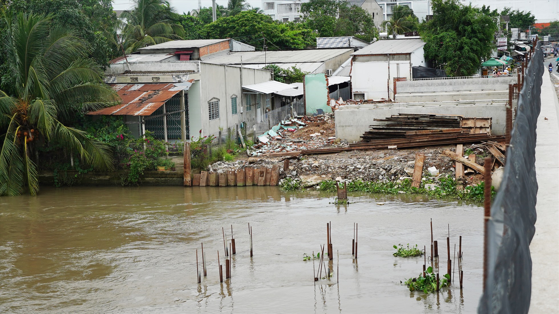
[[442, 144], [498, 141], [491, 135], [491, 118], [463, 118], [459, 115], [395, 114], [383, 125], [370, 125], [362, 143], [350, 147], [406, 148]]

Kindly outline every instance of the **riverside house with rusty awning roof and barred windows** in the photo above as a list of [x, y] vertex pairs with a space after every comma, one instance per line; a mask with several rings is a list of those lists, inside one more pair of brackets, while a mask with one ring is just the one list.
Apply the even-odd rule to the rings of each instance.
[[272, 71], [203, 59], [252, 47], [239, 44], [229, 39], [170, 41], [112, 60], [106, 83], [122, 102], [89, 114], [122, 115], [134, 136], [147, 130], [166, 141], [186, 141], [200, 129], [202, 136], [216, 135], [220, 128], [235, 130], [257, 115], [256, 104], [244, 102], [242, 86], [270, 81]]

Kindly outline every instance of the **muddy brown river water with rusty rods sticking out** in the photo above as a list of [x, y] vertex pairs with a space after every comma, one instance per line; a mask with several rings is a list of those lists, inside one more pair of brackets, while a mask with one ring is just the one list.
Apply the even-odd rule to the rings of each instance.
[[[45, 188], [36, 197], [2, 197], [0, 312], [476, 311], [482, 284], [479, 204], [350, 194], [351, 204], [337, 206], [329, 204], [333, 197], [269, 186], [68, 187]], [[462, 235], [462, 291], [458, 280], [428, 295], [400, 283], [418, 276], [424, 258], [394, 257], [392, 245], [429, 245], [431, 218], [442, 259], [447, 224], [451, 255]], [[315, 283], [313, 263], [302, 256], [316, 254], [326, 242], [329, 221], [335, 273]], [[351, 254], [354, 223], [359, 224], [357, 260]], [[221, 228], [230, 238], [231, 225], [232, 277], [220, 283], [217, 250], [225, 273]], [[197, 284], [196, 249], [201, 262], [202, 242], [207, 277]], [[458, 270], [457, 263], [454, 267]], [[446, 262], [440, 265], [441, 275], [446, 268]]]

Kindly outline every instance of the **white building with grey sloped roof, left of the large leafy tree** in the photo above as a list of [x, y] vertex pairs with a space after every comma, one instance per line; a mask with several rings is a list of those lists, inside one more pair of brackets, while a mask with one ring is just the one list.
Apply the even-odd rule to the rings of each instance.
[[411, 79], [413, 66], [427, 66], [419, 38], [379, 40], [353, 52], [353, 99], [394, 99], [395, 79]]

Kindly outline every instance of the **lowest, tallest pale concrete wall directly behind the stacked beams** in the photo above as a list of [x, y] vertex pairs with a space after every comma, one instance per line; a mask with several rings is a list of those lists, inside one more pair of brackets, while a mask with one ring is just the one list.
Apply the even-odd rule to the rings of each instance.
[[336, 137], [348, 141], [361, 141], [369, 125], [386, 124], [375, 122], [392, 114], [399, 113], [433, 113], [454, 114], [464, 117], [492, 118], [492, 133], [504, 134], [505, 131], [505, 99], [496, 100], [464, 100], [459, 102], [424, 102], [395, 104], [363, 104], [342, 105], [335, 110]]

